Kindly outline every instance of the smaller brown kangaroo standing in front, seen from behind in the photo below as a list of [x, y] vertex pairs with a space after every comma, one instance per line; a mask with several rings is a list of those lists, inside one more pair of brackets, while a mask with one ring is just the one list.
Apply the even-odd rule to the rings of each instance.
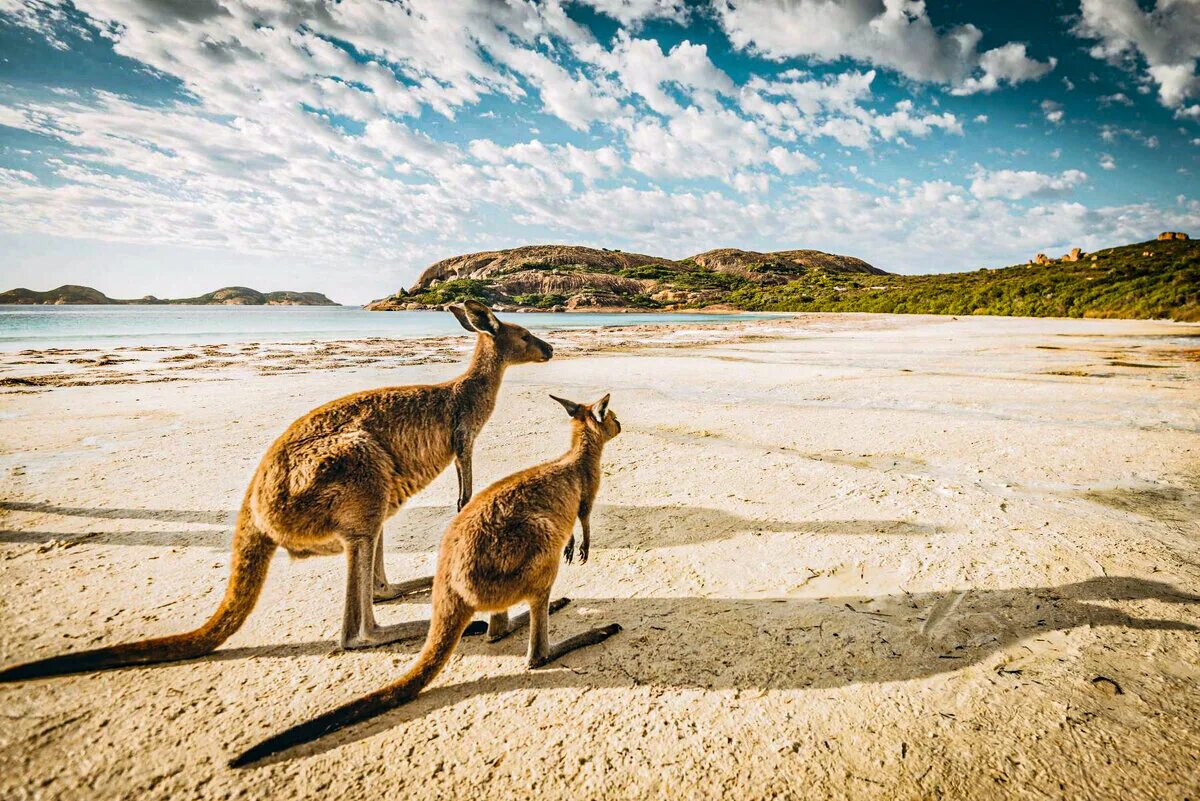
[[[593, 405], [554, 399], [572, 417], [571, 448], [553, 462], [496, 482], [450, 523], [433, 577], [430, 631], [408, 673], [386, 687], [264, 740], [232, 760], [232, 767], [248, 765], [413, 700], [450, 661], [476, 612], [492, 613], [487, 625], [492, 642], [529, 624], [530, 668], [601, 643], [620, 631], [619, 625], [611, 624], [550, 643], [550, 613], [566, 603], [550, 602], [558, 558], [571, 538], [575, 518], [583, 524], [587, 544], [588, 516], [600, 487], [600, 452], [605, 442], [620, 433], [617, 416], [607, 411], [607, 395]], [[529, 604], [529, 612], [510, 621], [508, 608], [522, 601]]]

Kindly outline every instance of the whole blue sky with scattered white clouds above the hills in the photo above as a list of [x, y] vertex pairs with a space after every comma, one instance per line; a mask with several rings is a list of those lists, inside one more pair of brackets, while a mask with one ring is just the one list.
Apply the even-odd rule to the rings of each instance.
[[0, 0], [0, 284], [364, 302], [529, 242], [1200, 234], [1200, 2]]

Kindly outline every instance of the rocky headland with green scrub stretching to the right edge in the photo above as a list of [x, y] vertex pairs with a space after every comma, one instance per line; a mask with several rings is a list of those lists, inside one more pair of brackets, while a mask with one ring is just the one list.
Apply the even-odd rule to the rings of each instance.
[[1200, 242], [1074, 248], [972, 272], [901, 276], [821, 251], [724, 248], [672, 260], [574, 245], [470, 253], [427, 267], [372, 311], [473, 297], [500, 311], [754, 311], [1200, 320]]

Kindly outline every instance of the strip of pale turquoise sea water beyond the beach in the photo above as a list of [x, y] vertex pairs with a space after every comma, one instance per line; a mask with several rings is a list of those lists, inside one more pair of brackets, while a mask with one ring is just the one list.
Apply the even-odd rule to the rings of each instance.
[[[530, 330], [715, 324], [757, 314], [500, 314]], [[461, 333], [449, 312], [359, 306], [0, 306], [0, 350], [224, 342], [307, 342]]]

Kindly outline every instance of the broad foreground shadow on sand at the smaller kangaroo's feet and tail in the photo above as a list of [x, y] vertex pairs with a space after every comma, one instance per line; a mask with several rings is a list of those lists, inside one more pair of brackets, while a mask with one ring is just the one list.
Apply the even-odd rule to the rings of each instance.
[[[1015, 643], [1028, 645], [1036, 657], [1039, 651], [1054, 649], [1039, 636], [1079, 626], [1200, 631], [1189, 622], [1134, 616], [1103, 603], [1114, 601], [1200, 604], [1200, 596], [1159, 582], [1105, 577], [1052, 588], [876, 598], [577, 598], [551, 618], [552, 637], [562, 638], [606, 622], [619, 622], [624, 632], [542, 670], [434, 686], [406, 706], [329, 733], [266, 761], [324, 753], [480, 694], [637, 686], [834, 688], [953, 673], [984, 662]], [[1196, 615], [1200, 609], [1193, 616]], [[464, 654], [490, 649], [520, 657], [524, 654], [524, 640], [520, 634], [492, 646], [463, 640], [458, 648]], [[997, 670], [1020, 673], [1020, 664], [1000, 664]], [[373, 688], [362, 688], [360, 693], [367, 689]], [[352, 694], [347, 692], [340, 700], [350, 700]], [[314, 704], [307, 717], [328, 709], [325, 698], [323, 693], [313, 694]], [[298, 722], [278, 721], [274, 725], [286, 728]]]

